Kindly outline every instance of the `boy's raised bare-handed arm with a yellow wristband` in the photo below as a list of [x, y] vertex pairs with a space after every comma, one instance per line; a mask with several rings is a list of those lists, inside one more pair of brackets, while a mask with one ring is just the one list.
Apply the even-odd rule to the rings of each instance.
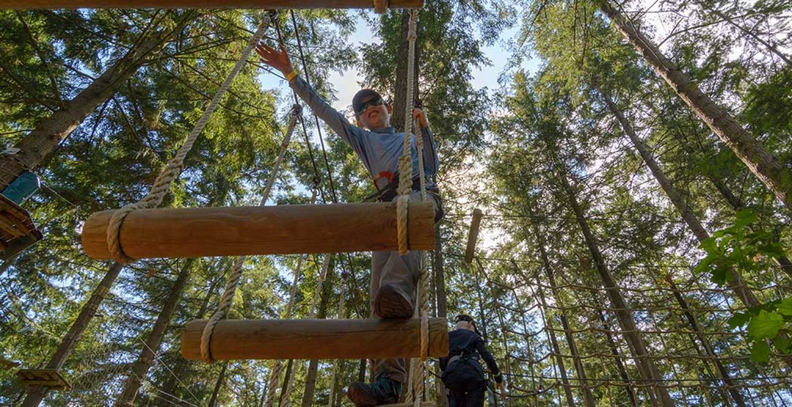
[[306, 102], [311, 111], [314, 112], [314, 115], [322, 119], [322, 121], [332, 128], [341, 139], [349, 146], [352, 146], [353, 149], [362, 150], [360, 137], [364, 135], [363, 131], [360, 127], [352, 126], [341, 112], [338, 112], [333, 106], [330, 106], [329, 103], [322, 99], [314, 89], [308, 86], [303, 78], [299, 78], [294, 67], [291, 66], [291, 60], [283, 44], [280, 44], [279, 51], [275, 48], [268, 47], [264, 43], [260, 43], [256, 48], [256, 52], [261, 56], [261, 62], [266, 63], [276, 70], [280, 70], [280, 73], [284, 74], [291, 89], [294, 89], [297, 96]]

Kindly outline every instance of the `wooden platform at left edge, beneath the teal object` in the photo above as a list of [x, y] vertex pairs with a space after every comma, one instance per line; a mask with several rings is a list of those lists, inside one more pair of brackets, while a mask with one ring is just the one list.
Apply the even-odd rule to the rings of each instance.
[[30, 214], [0, 194], [0, 260], [7, 260], [43, 238]]

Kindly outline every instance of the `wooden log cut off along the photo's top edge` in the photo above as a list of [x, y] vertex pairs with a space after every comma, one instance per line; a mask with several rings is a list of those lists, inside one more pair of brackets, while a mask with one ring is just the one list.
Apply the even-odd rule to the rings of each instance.
[[[390, 0], [391, 9], [424, 6], [424, 0]], [[372, 0], [0, 0], [0, 9], [371, 9]]]

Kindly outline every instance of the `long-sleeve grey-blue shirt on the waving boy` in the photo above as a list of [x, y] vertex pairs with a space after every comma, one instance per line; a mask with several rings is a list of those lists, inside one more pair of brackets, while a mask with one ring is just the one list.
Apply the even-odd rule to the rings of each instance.
[[[372, 178], [379, 173], [387, 171], [389, 173], [398, 172], [398, 158], [402, 155], [402, 144], [404, 143], [404, 133], [397, 133], [394, 127], [378, 127], [366, 130], [353, 126], [349, 121], [330, 106], [322, 97], [312, 89], [307, 82], [299, 76], [289, 84], [291, 89], [305, 101], [314, 115], [322, 119], [337, 135], [341, 137], [352, 150], [363, 160], [366, 169]], [[427, 185], [433, 185], [432, 175], [437, 173], [440, 165], [437, 159], [437, 146], [435, 144], [432, 131], [426, 127], [421, 129], [424, 140], [424, 171], [427, 178]], [[410, 133], [412, 140], [411, 152], [413, 156], [413, 177], [418, 177], [418, 153], [415, 144], [415, 135]], [[385, 179], [377, 182], [379, 188], [387, 184]]]

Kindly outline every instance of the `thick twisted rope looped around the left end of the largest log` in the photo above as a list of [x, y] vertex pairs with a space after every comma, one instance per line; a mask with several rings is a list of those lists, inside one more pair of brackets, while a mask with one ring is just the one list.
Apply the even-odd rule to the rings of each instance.
[[121, 207], [118, 211], [116, 211], [116, 213], [112, 215], [107, 228], [107, 247], [110, 251], [110, 254], [112, 254], [112, 257], [119, 263], [127, 264], [135, 261], [135, 259], [128, 257], [127, 254], [124, 253], [124, 249], [121, 247], [120, 233], [121, 225], [124, 223], [124, 219], [131, 213], [131, 211], [136, 211], [138, 209], [150, 209], [152, 207], [158, 207], [159, 204], [162, 204], [162, 200], [164, 200], [165, 196], [170, 192], [173, 180], [179, 177], [181, 169], [184, 168], [185, 157], [187, 157], [187, 154], [190, 152], [190, 150], [192, 150], [192, 145], [195, 144], [196, 139], [198, 139], [201, 131], [204, 130], [204, 126], [206, 126], [212, 113], [214, 113], [219, 106], [220, 101], [223, 99], [223, 96], [225, 96], [228, 87], [231, 85], [231, 82], [234, 81], [234, 78], [236, 78], [237, 74], [239, 74], [239, 72], [242, 71], [242, 68], [245, 67], [250, 53], [254, 48], [256, 48], [256, 44], [258, 44], [261, 38], [264, 37], [265, 32], [267, 32], [267, 29], [269, 28], [269, 23], [272, 17], [274, 16], [270, 15], [269, 13], [265, 14], [265, 17], [261, 21], [261, 25], [259, 25], [258, 30], [253, 34], [253, 36], [250, 37], [247, 47], [242, 51], [242, 55], [240, 55], [239, 60], [237, 61], [236, 65], [234, 65], [234, 68], [231, 69], [226, 81], [223, 82], [223, 85], [221, 85], [220, 89], [218, 89], [217, 93], [215, 93], [215, 97], [213, 97], [209, 102], [206, 110], [204, 110], [204, 114], [200, 116], [198, 123], [196, 123], [196, 126], [192, 128], [192, 131], [188, 135], [187, 139], [185, 139], [185, 143], [181, 145], [179, 150], [177, 150], [176, 155], [166, 163], [165, 168], [163, 168], [162, 172], [159, 173], [159, 176], [154, 181], [154, 185], [151, 187], [148, 194], [135, 204], [128, 204], [124, 207]]

